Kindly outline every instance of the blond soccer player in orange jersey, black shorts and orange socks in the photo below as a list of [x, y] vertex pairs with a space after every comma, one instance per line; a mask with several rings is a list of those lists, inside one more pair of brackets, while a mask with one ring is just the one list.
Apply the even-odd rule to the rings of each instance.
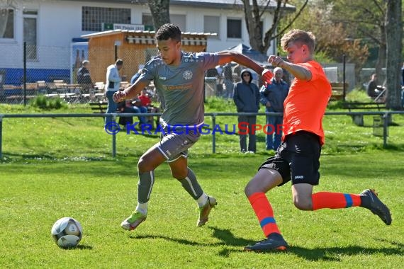
[[282, 143], [276, 155], [259, 167], [245, 187], [245, 195], [266, 236], [257, 244], [246, 246], [245, 250], [286, 250], [288, 244], [276, 225], [265, 193], [288, 181], [292, 181], [293, 203], [299, 210], [365, 207], [390, 225], [390, 211], [374, 190], [360, 194], [313, 193], [313, 185], [318, 185], [320, 178], [319, 159], [325, 142], [322, 117], [331, 96], [331, 86], [320, 64], [313, 60], [315, 36], [312, 33], [291, 30], [281, 38], [281, 46], [288, 54], [288, 62], [274, 55], [268, 62], [286, 69], [295, 78], [284, 102]]

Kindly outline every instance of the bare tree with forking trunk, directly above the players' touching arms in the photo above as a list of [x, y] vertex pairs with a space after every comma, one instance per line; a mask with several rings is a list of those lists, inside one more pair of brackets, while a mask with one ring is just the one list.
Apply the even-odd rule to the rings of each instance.
[[[305, 2], [299, 11], [294, 15], [292, 22], [298, 18], [301, 11], [303, 11], [308, 3], [308, 0], [304, 1]], [[271, 40], [274, 40], [279, 35], [282, 35], [284, 31], [288, 29], [288, 26], [286, 26], [284, 29], [281, 29], [279, 33], [276, 33], [279, 22], [284, 15], [284, 8], [288, 2], [288, 0], [276, 0], [276, 7], [273, 11], [274, 21], [272, 22], [271, 28], [269, 28], [269, 30], [267, 30], [264, 34], [263, 38], [261, 34], [263, 32], [261, 18], [264, 12], [269, 11], [269, 4], [271, 3], [271, 0], [262, 1], [260, 4], [258, 4], [257, 0], [252, 0], [252, 5], [250, 4], [249, 0], [242, 0], [245, 13], [245, 23], [247, 25], [249, 35], [249, 45], [251, 45], [254, 50], [258, 50], [259, 52], [266, 54], [266, 51], [271, 46]]]

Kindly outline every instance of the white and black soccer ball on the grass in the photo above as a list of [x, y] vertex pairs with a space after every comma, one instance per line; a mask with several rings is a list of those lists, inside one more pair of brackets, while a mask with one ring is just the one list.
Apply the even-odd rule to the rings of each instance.
[[72, 217], [57, 219], [50, 231], [53, 240], [61, 248], [74, 248], [82, 240], [82, 225]]

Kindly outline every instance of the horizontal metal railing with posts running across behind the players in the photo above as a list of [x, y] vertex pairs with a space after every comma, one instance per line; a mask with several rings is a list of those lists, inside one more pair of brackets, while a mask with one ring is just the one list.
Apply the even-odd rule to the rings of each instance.
[[[383, 125], [374, 126], [382, 128], [383, 132], [376, 130], [378, 135], [383, 134], [383, 147], [387, 147], [388, 137], [388, 120], [391, 119], [393, 114], [404, 114], [404, 111], [378, 111], [378, 112], [327, 112], [325, 115], [379, 115], [383, 118]], [[106, 113], [106, 114], [0, 114], [0, 159], [2, 158], [2, 133], [3, 133], [3, 120], [4, 118], [92, 118], [92, 117], [106, 117], [112, 116], [114, 120], [120, 116], [159, 116], [161, 113]], [[281, 113], [205, 113], [205, 116], [212, 117], [212, 125], [216, 125], [216, 118], [221, 116], [239, 116], [239, 115], [281, 115]], [[374, 129], [375, 132], [375, 129]], [[377, 134], [375, 134], [377, 135]], [[116, 156], [116, 132], [111, 134], [111, 147], [112, 156]], [[212, 153], [216, 152], [216, 137], [215, 132], [212, 132]]]

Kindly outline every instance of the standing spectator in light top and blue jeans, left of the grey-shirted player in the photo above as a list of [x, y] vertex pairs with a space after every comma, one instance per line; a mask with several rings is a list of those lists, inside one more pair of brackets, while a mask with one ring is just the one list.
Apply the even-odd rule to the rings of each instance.
[[[108, 107], [106, 108], [106, 113], [115, 113], [117, 105], [113, 101], [113, 93], [116, 93], [119, 90], [120, 86], [120, 76], [119, 70], [123, 66], [123, 60], [117, 59], [115, 64], [111, 64], [106, 69], [106, 98], [108, 100]], [[111, 116], [107, 116], [105, 119], [105, 123], [112, 121]]]

